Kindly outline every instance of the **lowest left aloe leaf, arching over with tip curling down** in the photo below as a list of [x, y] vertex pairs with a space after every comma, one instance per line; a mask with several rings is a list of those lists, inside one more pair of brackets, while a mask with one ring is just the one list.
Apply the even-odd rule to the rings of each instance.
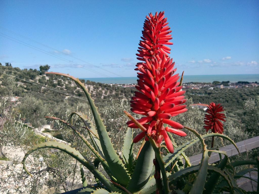
[[[108, 180], [107, 178], [105, 178], [105, 176], [103, 176], [96, 168], [95, 166], [88, 161], [86, 158], [84, 158], [84, 156], [82, 156], [82, 154], [80, 152], [78, 152], [77, 150], [75, 150], [75, 148], [71, 148], [69, 145], [63, 144], [63, 143], [59, 143], [56, 141], [47, 141], [47, 142], [42, 142], [38, 145], [35, 145], [33, 148], [31, 148], [24, 156], [23, 158], [23, 168], [24, 170], [29, 174], [29, 171], [26, 169], [25, 166], [25, 161], [26, 158], [34, 151], [39, 150], [41, 148], [55, 148], [58, 150], [61, 150], [63, 152], [66, 152], [67, 154], [69, 154], [70, 156], [72, 156], [73, 158], [75, 158], [78, 162], [80, 162], [82, 165], [84, 165], [87, 169], [90, 170], [91, 173], [93, 173], [93, 175], [95, 177], [97, 177], [108, 189], [112, 190], [112, 191], [117, 191], [118, 189], [116, 187], [114, 187]], [[32, 176], [32, 175], [31, 175]]]

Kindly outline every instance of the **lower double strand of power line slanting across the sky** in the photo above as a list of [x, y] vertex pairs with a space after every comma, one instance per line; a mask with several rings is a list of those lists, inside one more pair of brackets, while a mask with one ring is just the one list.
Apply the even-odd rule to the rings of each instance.
[[[0, 32], [0, 34], [3, 34], [3, 33]], [[5, 35], [5, 36], [3, 36], [3, 35]], [[79, 64], [77, 64], [77, 63], [71, 63], [69, 60], [67, 60], [67, 59], [65, 59], [65, 58], [63, 58], [63, 57], [54, 55], [54, 54], [52, 54], [52, 53], [50, 53], [50, 52], [48, 52], [48, 51], [46, 51], [46, 50], [40, 49], [40, 48], [35, 47], [35, 46], [31, 45], [31, 44], [27, 44], [26, 42], [20, 41], [20, 40], [18, 40], [18, 39], [16, 39], [16, 38], [13, 38], [13, 37], [8, 36], [8, 35], [6, 35], [6, 34], [3, 34], [3, 35], [0, 35], [0, 36], [3, 36], [4, 38], [7, 38], [7, 39], [12, 40], [12, 41], [14, 41], [14, 42], [17, 42], [17, 43], [19, 43], [19, 44], [22, 44], [22, 45], [24, 45], [24, 46], [26, 46], [26, 47], [30, 47], [30, 48], [32, 48], [32, 49], [34, 49], [34, 50], [38, 50], [38, 51], [40, 51], [41, 53], [45, 53], [45, 54], [50, 55], [50, 56], [52, 56], [52, 57], [58, 58], [58, 59], [60, 59], [60, 60], [62, 60], [62, 61], [65, 61], [65, 62], [67, 62], [67, 63], [70, 63], [70, 64], [72, 64], [72, 65], [76, 65], [76, 66], [79, 67], [79, 68], [87, 69], [88, 71], [91, 71], [91, 72], [93, 72], [93, 73], [97, 73], [97, 74], [99, 74], [99, 75], [101, 75], [101, 76], [104, 76], [104, 77], [110, 77], [110, 76], [106, 76], [106, 75], [103, 74], [103, 73], [99, 73], [98, 71], [95, 71], [95, 70], [91, 70], [91, 69], [89, 69], [89, 68], [86, 68], [86, 67], [84, 67], [84, 66], [82, 66], [82, 65], [79, 65]], [[10, 37], [10, 38], [8, 38], [8, 37], [6, 37], [6, 36], [8, 36], [8, 37]], [[14, 40], [13, 40], [13, 39], [14, 39]], [[18, 41], [19, 41], [19, 42], [18, 42]], [[27, 44], [27, 45], [26, 45], [26, 44]], [[34, 48], [33, 48], [33, 47], [34, 47]]]

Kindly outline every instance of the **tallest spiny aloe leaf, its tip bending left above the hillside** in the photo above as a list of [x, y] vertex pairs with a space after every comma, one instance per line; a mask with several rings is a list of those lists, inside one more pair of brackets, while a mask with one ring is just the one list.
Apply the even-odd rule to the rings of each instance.
[[106, 131], [106, 127], [103, 124], [103, 120], [101, 119], [100, 114], [97, 111], [97, 107], [95, 106], [93, 99], [91, 98], [91, 95], [88, 92], [88, 89], [78, 78], [70, 76], [69, 74], [57, 73], [57, 72], [46, 72], [46, 73], [68, 77], [68, 78], [74, 80], [83, 89], [83, 91], [87, 97], [87, 100], [89, 102], [90, 108], [92, 110], [96, 129], [97, 129], [100, 143], [101, 143], [101, 146], [103, 149], [103, 154], [105, 156], [105, 160], [107, 161], [107, 163], [109, 165], [109, 170], [111, 171], [111, 174], [121, 184], [127, 185], [128, 182], [130, 181], [130, 176], [126, 171], [126, 168], [124, 167], [123, 162], [121, 161], [121, 159], [117, 155], [116, 151], [114, 150], [113, 144], [111, 142], [111, 138], [109, 137], [109, 134]]

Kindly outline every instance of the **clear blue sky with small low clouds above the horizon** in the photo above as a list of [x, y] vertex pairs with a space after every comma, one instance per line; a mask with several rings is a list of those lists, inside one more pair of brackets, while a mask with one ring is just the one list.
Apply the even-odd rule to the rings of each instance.
[[51, 71], [81, 78], [134, 77], [145, 16], [165, 11], [174, 42], [170, 57], [178, 73], [259, 73], [259, 1], [0, 4], [0, 62], [13, 67], [48, 64]]

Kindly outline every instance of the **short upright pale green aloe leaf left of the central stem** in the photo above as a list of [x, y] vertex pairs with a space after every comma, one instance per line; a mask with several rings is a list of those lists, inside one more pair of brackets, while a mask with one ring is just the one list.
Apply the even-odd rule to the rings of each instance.
[[124, 138], [124, 144], [123, 144], [123, 150], [122, 150], [122, 154], [123, 154], [123, 160], [126, 164], [128, 164], [129, 162], [129, 158], [130, 155], [132, 153], [131, 152], [131, 145], [132, 145], [132, 138], [133, 138], [133, 130], [132, 128], [127, 129], [125, 138]]

